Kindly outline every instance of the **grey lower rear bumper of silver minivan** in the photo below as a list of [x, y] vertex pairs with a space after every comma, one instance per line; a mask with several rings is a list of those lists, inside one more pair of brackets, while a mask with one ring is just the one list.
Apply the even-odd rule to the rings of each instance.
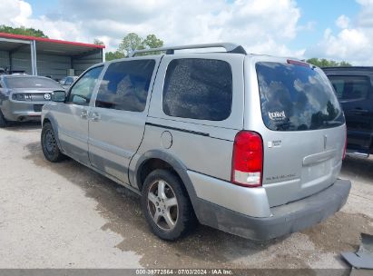
[[201, 199], [194, 206], [202, 224], [252, 240], [270, 240], [322, 222], [347, 202], [351, 182], [337, 180], [329, 188], [297, 202], [270, 208], [271, 216], [256, 218]]

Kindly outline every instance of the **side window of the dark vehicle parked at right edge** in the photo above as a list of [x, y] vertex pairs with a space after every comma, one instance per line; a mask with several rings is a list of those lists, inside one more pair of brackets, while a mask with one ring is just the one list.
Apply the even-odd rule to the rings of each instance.
[[367, 76], [329, 75], [339, 100], [357, 100], [367, 98], [370, 81]]

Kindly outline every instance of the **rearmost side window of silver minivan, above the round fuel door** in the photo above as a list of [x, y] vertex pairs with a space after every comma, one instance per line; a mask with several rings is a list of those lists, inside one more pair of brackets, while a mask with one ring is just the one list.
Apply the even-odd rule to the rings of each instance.
[[231, 65], [200, 58], [174, 59], [163, 86], [163, 112], [169, 116], [222, 121], [231, 114]]

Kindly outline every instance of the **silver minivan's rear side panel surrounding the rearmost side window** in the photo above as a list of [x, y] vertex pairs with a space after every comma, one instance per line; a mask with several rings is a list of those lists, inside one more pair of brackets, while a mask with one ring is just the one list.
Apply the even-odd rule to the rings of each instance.
[[[231, 180], [231, 154], [236, 133], [243, 127], [243, 60], [242, 54], [205, 54], [231, 64], [233, 98], [231, 115], [223, 121], [206, 121], [168, 116], [162, 111], [162, 92], [167, 66], [173, 59], [201, 58], [201, 54], [165, 55], [152, 91], [152, 103], [139, 156], [152, 149], [164, 149], [162, 133], [172, 135], [172, 146], [166, 151], [178, 156], [191, 171]], [[191, 151], [192, 149], [192, 151]], [[135, 163], [132, 163], [132, 169]]]

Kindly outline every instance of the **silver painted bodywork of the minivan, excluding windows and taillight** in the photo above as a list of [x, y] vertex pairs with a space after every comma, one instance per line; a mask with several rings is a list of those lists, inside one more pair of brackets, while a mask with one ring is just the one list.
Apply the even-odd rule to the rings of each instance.
[[[286, 63], [285, 58], [209, 53], [142, 56], [113, 62], [142, 58], [156, 61], [144, 112], [95, 107], [98, 85], [88, 106], [51, 103], [44, 107], [43, 120], [55, 118], [54, 128], [58, 129], [64, 153], [116, 182], [139, 190], [142, 183], [136, 176], [137, 170], [152, 158], [150, 153], [160, 152], [163, 161], [173, 165], [172, 161], [177, 160], [182, 164], [178, 170], [183, 172], [183, 182], [191, 182], [187, 188], [193, 204], [195, 193], [198, 200], [258, 218], [270, 218], [272, 207], [307, 198], [336, 182], [345, 125], [316, 131], [275, 132], [263, 123], [255, 64]], [[217, 59], [231, 64], [233, 94], [227, 119], [195, 120], [163, 113], [166, 70], [172, 60], [179, 58]], [[100, 79], [113, 62], [104, 64]], [[81, 117], [83, 111], [85, 120]], [[231, 184], [233, 142], [241, 130], [254, 131], [262, 137], [262, 187]], [[272, 146], [279, 141], [280, 144]]]

